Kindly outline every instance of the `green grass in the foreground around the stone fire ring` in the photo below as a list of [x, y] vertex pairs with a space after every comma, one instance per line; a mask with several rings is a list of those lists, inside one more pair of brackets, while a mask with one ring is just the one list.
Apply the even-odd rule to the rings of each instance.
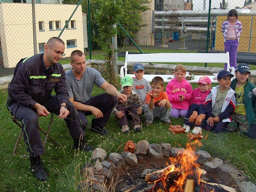
[[[197, 87], [192, 84], [193, 88]], [[215, 86], [215, 85], [213, 85]], [[93, 95], [102, 93], [100, 88], [94, 87]], [[29, 170], [29, 160], [22, 156], [13, 156], [12, 150], [20, 132], [20, 128], [13, 124], [11, 116], [5, 108], [7, 90], [0, 90], [0, 191], [78, 191], [77, 183], [81, 181], [80, 169], [86, 161], [90, 160], [91, 154], [84, 152], [75, 152], [72, 149], [73, 140], [69, 135], [68, 128], [63, 120], [54, 117], [52, 123], [51, 136], [58, 141], [54, 146], [47, 142], [45, 154], [42, 160], [45, 162], [45, 168], [49, 173], [49, 180], [40, 182], [36, 180]], [[39, 118], [39, 124], [46, 129], [49, 122], [49, 116]], [[91, 122], [92, 116], [88, 117]], [[183, 124], [184, 119], [172, 119], [173, 124]], [[91, 125], [89, 123], [89, 125]], [[111, 116], [106, 128], [110, 131], [109, 136], [114, 137], [123, 143], [128, 140], [138, 142], [139, 140], [148, 140], [149, 143], [170, 143], [173, 147], [185, 147], [188, 139], [185, 134], [175, 134], [168, 131], [168, 126], [162, 124], [160, 120], [155, 120], [152, 125], [145, 127], [140, 133], [130, 132], [122, 134], [116, 119]], [[124, 146], [108, 136], [100, 136], [92, 133], [89, 129], [85, 131], [86, 139], [93, 147], [104, 148], [108, 155], [111, 152], [121, 152]], [[256, 142], [244, 138], [236, 133], [215, 134], [212, 132], [203, 132], [208, 138], [202, 140], [212, 150], [218, 152], [237, 168], [244, 170], [246, 175], [253, 181], [256, 181]], [[44, 137], [42, 137], [44, 138]], [[211, 149], [204, 145], [198, 147], [208, 151], [212, 156], [218, 157]], [[23, 139], [17, 150], [18, 154], [27, 154]]]

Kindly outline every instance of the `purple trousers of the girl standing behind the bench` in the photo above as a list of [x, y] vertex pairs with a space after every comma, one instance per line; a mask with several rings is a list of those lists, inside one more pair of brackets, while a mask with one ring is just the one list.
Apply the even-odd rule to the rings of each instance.
[[[226, 42], [224, 42], [225, 52], [229, 52], [230, 67], [236, 68], [236, 53], [238, 45], [239, 42], [237, 41], [237, 39], [226, 39]], [[224, 69], [227, 69], [227, 63], [225, 63]]]

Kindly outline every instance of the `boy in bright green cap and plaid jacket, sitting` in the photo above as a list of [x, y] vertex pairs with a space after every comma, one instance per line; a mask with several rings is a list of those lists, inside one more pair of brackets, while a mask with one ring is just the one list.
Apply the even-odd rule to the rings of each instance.
[[130, 132], [128, 120], [132, 121], [133, 130], [135, 132], [140, 132], [140, 114], [142, 113], [142, 103], [139, 95], [132, 90], [132, 77], [123, 77], [121, 80], [121, 85], [123, 90], [121, 90], [120, 93], [127, 96], [127, 101], [117, 101], [112, 113], [117, 117], [118, 124], [121, 126], [123, 133]]

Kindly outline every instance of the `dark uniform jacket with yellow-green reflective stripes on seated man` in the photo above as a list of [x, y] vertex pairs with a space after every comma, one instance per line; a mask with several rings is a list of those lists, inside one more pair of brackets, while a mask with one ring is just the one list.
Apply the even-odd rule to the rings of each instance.
[[43, 104], [53, 88], [60, 103], [68, 103], [68, 88], [63, 67], [53, 64], [48, 70], [44, 66], [44, 53], [21, 59], [16, 65], [12, 82], [8, 85], [7, 105], [19, 102], [29, 108]]

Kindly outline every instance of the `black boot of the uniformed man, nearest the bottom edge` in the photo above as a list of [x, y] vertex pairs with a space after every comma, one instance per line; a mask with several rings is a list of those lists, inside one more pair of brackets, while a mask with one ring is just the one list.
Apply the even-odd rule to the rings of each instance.
[[49, 178], [47, 172], [44, 169], [43, 162], [41, 162], [40, 156], [37, 157], [29, 157], [29, 161], [31, 164], [31, 170], [36, 179], [41, 181], [45, 181]]

